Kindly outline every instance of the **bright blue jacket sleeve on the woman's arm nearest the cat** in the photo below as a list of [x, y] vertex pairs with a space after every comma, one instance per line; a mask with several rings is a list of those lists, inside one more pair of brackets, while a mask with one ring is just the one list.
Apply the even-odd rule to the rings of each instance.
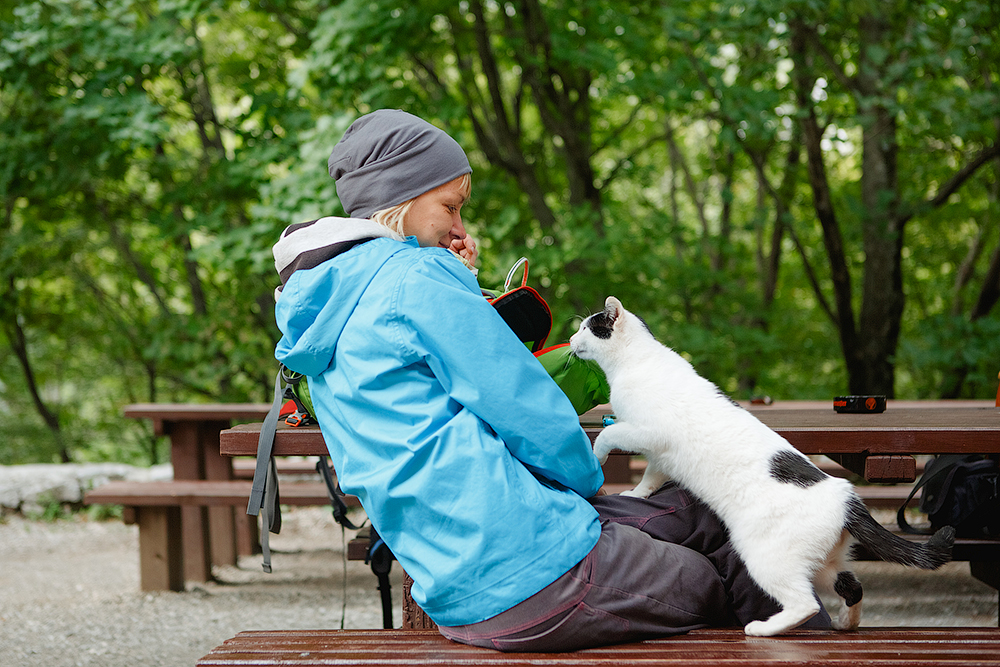
[[533, 474], [589, 498], [604, 483], [566, 395], [445, 251], [425, 249], [396, 285], [399, 344], [423, 358], [456, 410], [470, 410]]

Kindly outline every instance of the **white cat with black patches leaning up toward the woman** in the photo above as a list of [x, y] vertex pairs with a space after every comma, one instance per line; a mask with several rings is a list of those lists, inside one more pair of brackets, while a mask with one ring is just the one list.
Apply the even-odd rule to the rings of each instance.
[[583, 321], [570, 349], [596, 361], [611, 386], [615, 421], [594, 454], [601, 463], [615, 449], [646, 456], [642, 481], [623, 495], [645, 498], [673, 479], [719, 516], [747, 571], [781, 605], [748, 623], [747, 635], [782, 634], [818, 613], [814, 586], [843, 599], [836, 629], [857, 628], [862, 586], [847, 567], [855, 542], [902, 565], [936, 569], [951, 560], [953, 528], [926, 545], [890, 533], [849, 481], [821, 471], [698, 375], [615, 297]]

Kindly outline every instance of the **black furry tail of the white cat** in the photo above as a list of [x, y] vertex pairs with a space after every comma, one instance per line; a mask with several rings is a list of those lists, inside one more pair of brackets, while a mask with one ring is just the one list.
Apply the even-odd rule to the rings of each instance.
[[875, 558], [924, 570], [936, 570], [950, 561], [955, 543], [955, 529], [951, 526], [941, 528], [923, 544], [894, 535], [872, 518], [856, 495], [848, 502], [845, 528]]

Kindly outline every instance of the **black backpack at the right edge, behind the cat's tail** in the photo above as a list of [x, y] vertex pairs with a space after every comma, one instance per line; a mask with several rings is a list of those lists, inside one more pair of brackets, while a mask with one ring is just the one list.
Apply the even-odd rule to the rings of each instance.
[[923, 488], [920, 511], [931, 522], [931, 533], [953, 526], [957, 537], [982, 538], [1000, 535], [1000, 492], [994, 458], [979, 454], [936, 456], [924, 469], [909, 498], [896, 513], [900, 529], [920, 534], [906, 521], [904, 510], [917, 490]]

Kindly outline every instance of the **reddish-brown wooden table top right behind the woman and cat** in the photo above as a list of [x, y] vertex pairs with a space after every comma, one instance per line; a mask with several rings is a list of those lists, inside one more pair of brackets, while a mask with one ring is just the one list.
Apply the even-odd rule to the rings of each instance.
[[[1000, 453], [1000, 409], [992, 401], [890, 402], [880, 414], [840, 414], [826, 406], [786, 402], [750, 411], [806, 454]], [[589, 425], [595, 413], [588, 414], [581, 423], [593, 438], [600, 427]], [[259, 433], [259, 423], [223, 431], [222, 454], [254, 456]], [[274, 454], [320, 456], [326, 446], [318, 427], [281, 427]]]

